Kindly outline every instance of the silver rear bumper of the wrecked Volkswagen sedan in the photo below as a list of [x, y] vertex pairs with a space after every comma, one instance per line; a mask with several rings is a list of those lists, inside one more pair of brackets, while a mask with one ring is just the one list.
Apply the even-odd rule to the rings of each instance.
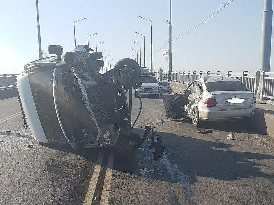
[[199, 108], [199, 116], [202, 121], [231, 121], [241, 118], [250, 118], [255, 112], [255, 104], [246, 109], [219, 110], [216, 107]]

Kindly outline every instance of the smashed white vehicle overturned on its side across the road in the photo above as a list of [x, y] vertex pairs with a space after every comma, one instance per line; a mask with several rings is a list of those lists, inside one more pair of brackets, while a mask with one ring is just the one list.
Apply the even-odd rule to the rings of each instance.
[[[90, 50], [78, 45], [62, 60], [63, 48], [51, 45], [49, 53], [57, 57], [25, 65], [25, 71], [17, 77], [24, 126], [29, 125], [39, 142], [66, 142], [74, 150], [110, 145], [139, 147], [151, 127], [145, 127], [142, 137], [131, 132], [137, 120], [131, 125], [132, 88], [141, 85], [138, 63], [124, 58], [102, 75], [99, 71], [104, 62], [98, 60], [102, 53]], [[138, 116], [140, 112], [141, 108]]]

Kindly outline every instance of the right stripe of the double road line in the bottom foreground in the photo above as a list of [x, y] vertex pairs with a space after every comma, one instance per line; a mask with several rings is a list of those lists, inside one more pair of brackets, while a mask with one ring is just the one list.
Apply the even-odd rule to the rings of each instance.
[[114, 154], [113, 152], [110, 153], [108, 157], [108, 165], [106, 168], [106, 175], [100, 200], [100, 205], [108, 204], [108, 197], [110, 192], [110, 181], [111, 181], [111, 175], [112, 175], [112, 167], [113, 167], [113, 160], [114, 160]]

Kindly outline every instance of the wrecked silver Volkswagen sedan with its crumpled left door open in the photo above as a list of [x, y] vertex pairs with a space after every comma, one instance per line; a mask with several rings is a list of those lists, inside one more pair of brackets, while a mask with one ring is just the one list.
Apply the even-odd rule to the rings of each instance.
[[160, 87], [167, 118], [187, 116], [198, 127], [201, 121], [232, 121], [248, 119], [255, 112], [254, 94], [238, 79], [205, 76], [192, 82], [177, 94]]

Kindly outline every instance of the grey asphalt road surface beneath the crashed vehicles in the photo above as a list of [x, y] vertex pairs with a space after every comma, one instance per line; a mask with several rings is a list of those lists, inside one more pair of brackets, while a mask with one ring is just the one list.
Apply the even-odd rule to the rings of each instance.
[[[152, 125], [162, 136], [157, 162], [149, 137], [134, 152], [39, 144], [22, 126], [17, 98], [1, 100], [0, 204], [274, 204], [271, 138], [241, 121], [195, 128], [166, 119], [162, 99], [142, 101], [134, 132]], [[139, 108], [134, 98], [133, 119]]]

